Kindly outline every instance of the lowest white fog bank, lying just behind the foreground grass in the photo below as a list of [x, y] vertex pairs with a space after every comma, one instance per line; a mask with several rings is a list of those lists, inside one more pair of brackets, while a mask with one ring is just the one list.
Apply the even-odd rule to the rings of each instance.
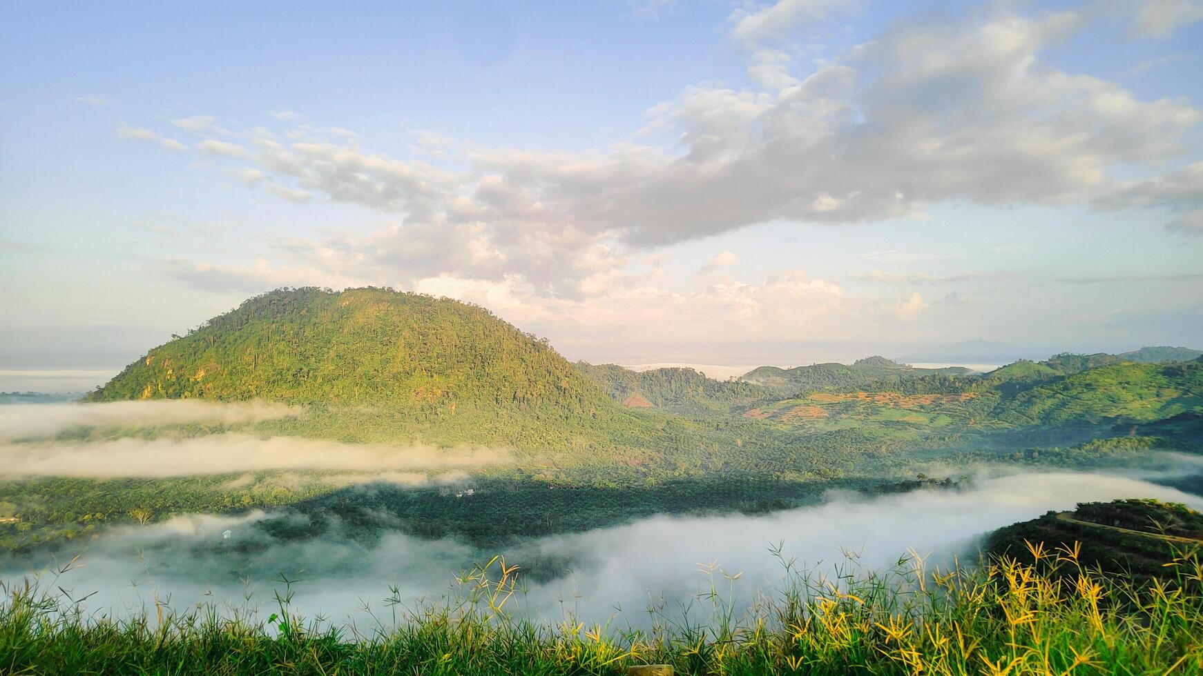
[[[1184, 471], [1198, 472], [1198, 465], [1192, 465]], [[693, 598], [705, 584], [699, 563], [717, 562], [729, 573], [742, 572], [735, 585], [743, 599], [769, 590], [782, 573], [768, 552], [776, 543], [787, 557], [825, 572], [842, 562], [847, 551], [857, 552], [861, 568], [882, 568], [907, 550], [932, 562], [964, 554], [973, 557], [977, 536], [1049, 509], [1072, 509], [1077, 502], [1151, 497], [1203, 508], [1203, 498], [1142, 479], [1085, 473], [979, 478], [961, 490], [877, 498], [828, 497], [818, 507], [765, 516], [657, 516], [529, 540], [506, 552], [511, 563], [545, 569], [552, 562], [571, 573], [543, 584], [529, 581], [520, 609], [546, 620], [559, 620], [565, 610], [575, 609], [585, 621], [604, 621], [622, 609], [620, 624], [641, 624], [647, 621], [641, 611], [650, 597], [665, 599], [670, 615], [676, 604]], [[45, 552], [36, 560], [10, 561], [2, 576], [13, 580], [49, 569], [83, 548], [77, 568], [54, 584], [75, 598], [95, 592], [85, 602], [90, 610], [123, 615], [153, 608], [158, 598], [170, 599], [176, 609], [209, 602], [257, 606], [266, 615], [273, 610], [273, 590], [283, 587], [273, 579], [285, 574], [301, 580], [294, 587], [296, 609], [362, 627], [374, 622], [361, 609], [365, 604], [378, 617], [390, 617], [384, 604], [390, 585], [398, 586], [405, 599], [438, 597], [448, 592], [455, 573], [494, 554], [402, 533], [365, 545], [339, 528], [282, 544], [255, 528], [254, 521], [262, 518], [261, 513], [191, 516], [114, 528], [97, 540], [59, 550], [53, 561]], [[223, 537], [226, 530], [230, 538]]]

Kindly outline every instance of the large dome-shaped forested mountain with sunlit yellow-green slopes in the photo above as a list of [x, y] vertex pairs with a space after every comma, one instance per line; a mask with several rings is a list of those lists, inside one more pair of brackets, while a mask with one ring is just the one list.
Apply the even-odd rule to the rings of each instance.
[[588, 448], [648, 426], [487, 310], [375, 288], [253, 298], [89, 395], [189, 397], [314, 405], [302, 429], [280, 431], [351, 441]]

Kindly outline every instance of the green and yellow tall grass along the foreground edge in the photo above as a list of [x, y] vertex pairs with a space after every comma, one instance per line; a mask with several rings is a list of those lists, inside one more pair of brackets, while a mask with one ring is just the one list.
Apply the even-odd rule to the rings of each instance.
[[[737, 575], [707, 569], [703, 617], [651, 610], [651, 628], [541, 624], [509, 611], [518, 590], [504, 558], [464, 574], [462, 593], [365, 634], [290, 614], [285, 588], [266, 621], [207, 608], [132, 620], [22, 582], [2, 588], [5, 674], [1201, 674], [1203, 566], [1167, 556], [1168, 575], [1137, 585], [1078, 563], [1077, 546], [925, 570], [831, 578], [783, 561], [780, 590], [736, 612]], [[53, 581], [51, 582], [53, 585]], [[401, 606], [401, 599], [393, 598]]]

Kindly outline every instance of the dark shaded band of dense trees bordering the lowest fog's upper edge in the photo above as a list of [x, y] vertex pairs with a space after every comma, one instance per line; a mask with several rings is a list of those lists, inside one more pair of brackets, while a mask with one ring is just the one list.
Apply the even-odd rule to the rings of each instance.
[[[467, 485], [467, 484], [466, 484]], [[476, 479], [473, 493], [463, 489], [411, 489], [387, 483], [351, 486], [301, 502], [254, 525], [248, 536], [257, 545], [271, 539], [321, 538], [332, 528], [342, 537], [374, 542], [403, 530], [423, 538], [457, 537], [481, 548], [512, 544], [516, 537], [539, 537], [611, 526], [653, 514], [703, 514], [740, 510], [758, 514], [818, 503], [823, 490], [841, 487], [866, 495], [919, 487], [953, 487], [952, 478], [883, 480], [848, 478], [814, 481], [729, 472], [647, 485], [599, 486], [589, 483], [545, 483]], [[505, 519], [482, 518], [504, 514]]]

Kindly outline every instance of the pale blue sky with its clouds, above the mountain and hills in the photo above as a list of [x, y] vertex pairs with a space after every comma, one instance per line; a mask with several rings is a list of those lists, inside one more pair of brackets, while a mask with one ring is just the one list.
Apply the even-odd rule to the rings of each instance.
[[120, 367], [283, 286], [623, 364], [1203, 347], [1201, 22], [7, 0], [0, 370]]

